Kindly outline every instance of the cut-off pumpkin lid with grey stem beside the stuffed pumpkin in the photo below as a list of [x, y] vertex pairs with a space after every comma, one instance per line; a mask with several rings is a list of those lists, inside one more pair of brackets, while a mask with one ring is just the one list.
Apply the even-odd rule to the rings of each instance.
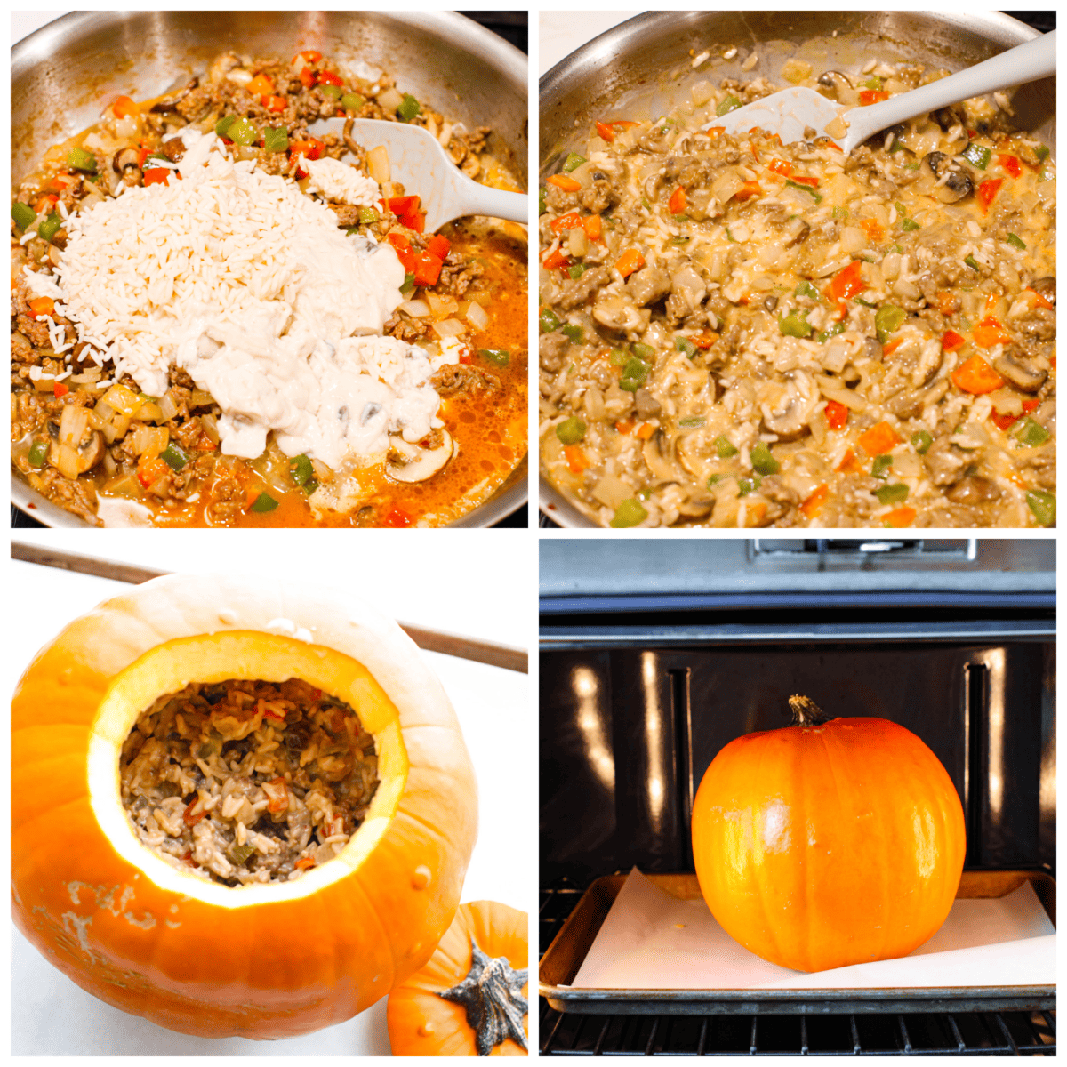
[[396, 1056], [527, 1055], [528, 919], [463, 904], [429, 964], [389, 993]]

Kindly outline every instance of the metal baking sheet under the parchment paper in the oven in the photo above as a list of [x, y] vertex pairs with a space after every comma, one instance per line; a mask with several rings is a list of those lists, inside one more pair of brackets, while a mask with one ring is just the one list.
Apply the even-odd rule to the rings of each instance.
[[[675, 896], [699, 895], [695, 874], [648, 875]], [[1048, 1010], [1055, 986], [890, 989], [572, 989], [625, 875], [598, 878], [583, 894], [541, 959], [539, 990], [557, 1012], [585, 1015], [839, 1015], [887, 1012]], [[1056, 883], [1044, 872], [965, 871], [958, 897], [999, 897], [1030, 881], [1052, 924]]]

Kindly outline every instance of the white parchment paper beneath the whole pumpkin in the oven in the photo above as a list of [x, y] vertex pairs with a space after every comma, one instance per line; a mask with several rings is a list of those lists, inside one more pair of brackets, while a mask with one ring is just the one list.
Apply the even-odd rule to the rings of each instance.
[[636, 869], [575, 975], [580, 989], [855, 989], [1052, 985], [1055, 928], [1028, 882], [994, 899], [959, 899], [903, 959], [805, 974], [742, 947], [702, 899], [680, 901]]

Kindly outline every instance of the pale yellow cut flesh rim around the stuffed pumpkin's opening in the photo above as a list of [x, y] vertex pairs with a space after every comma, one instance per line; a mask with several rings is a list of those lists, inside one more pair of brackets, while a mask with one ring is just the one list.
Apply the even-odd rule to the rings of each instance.
[[[288, 882], [223, 886], [168, 863], [137, 837], [122, 802], [120, 753], [138, 717], [190, 682], [290, 678], [344, 700], [375, 738], [379, 784], [363, 824], [332, 860]], [[86, 785], [100, 831], [123, 860], [164, 891], [234, 909], [301, 899], [356, 873], [387, 833], [409, 769], [400, 714], [357, 659], [285, 635], [226, 631], [163, 641], [110, 680], [90, 724]]]

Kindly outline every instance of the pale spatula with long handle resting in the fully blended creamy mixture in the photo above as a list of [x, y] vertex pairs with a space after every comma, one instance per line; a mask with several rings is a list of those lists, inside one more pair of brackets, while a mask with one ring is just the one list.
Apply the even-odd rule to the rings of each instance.
[[[735, 133], [757, 127], [777, 133], [783, 144], [790, 144], [805, 140], [805, 128], [811, 127], [816, 137], [830, 138], [847, 154], [872, 134], [895, 123], [982, 93], [1037, 81], [1055, 74], [1055, 70], [1056, 32], [1053, 30], [977, 66], [865, 108], [842, 107], [813, 89], [785, 89], [730, 111], [704, 128], [719, 126], [728, 133]], [[839, 126], [831, 125], [838, 118], [843, 118], [846, 124], [844, 132]], [[827, 129], [828, 126], [830, 129]]]

